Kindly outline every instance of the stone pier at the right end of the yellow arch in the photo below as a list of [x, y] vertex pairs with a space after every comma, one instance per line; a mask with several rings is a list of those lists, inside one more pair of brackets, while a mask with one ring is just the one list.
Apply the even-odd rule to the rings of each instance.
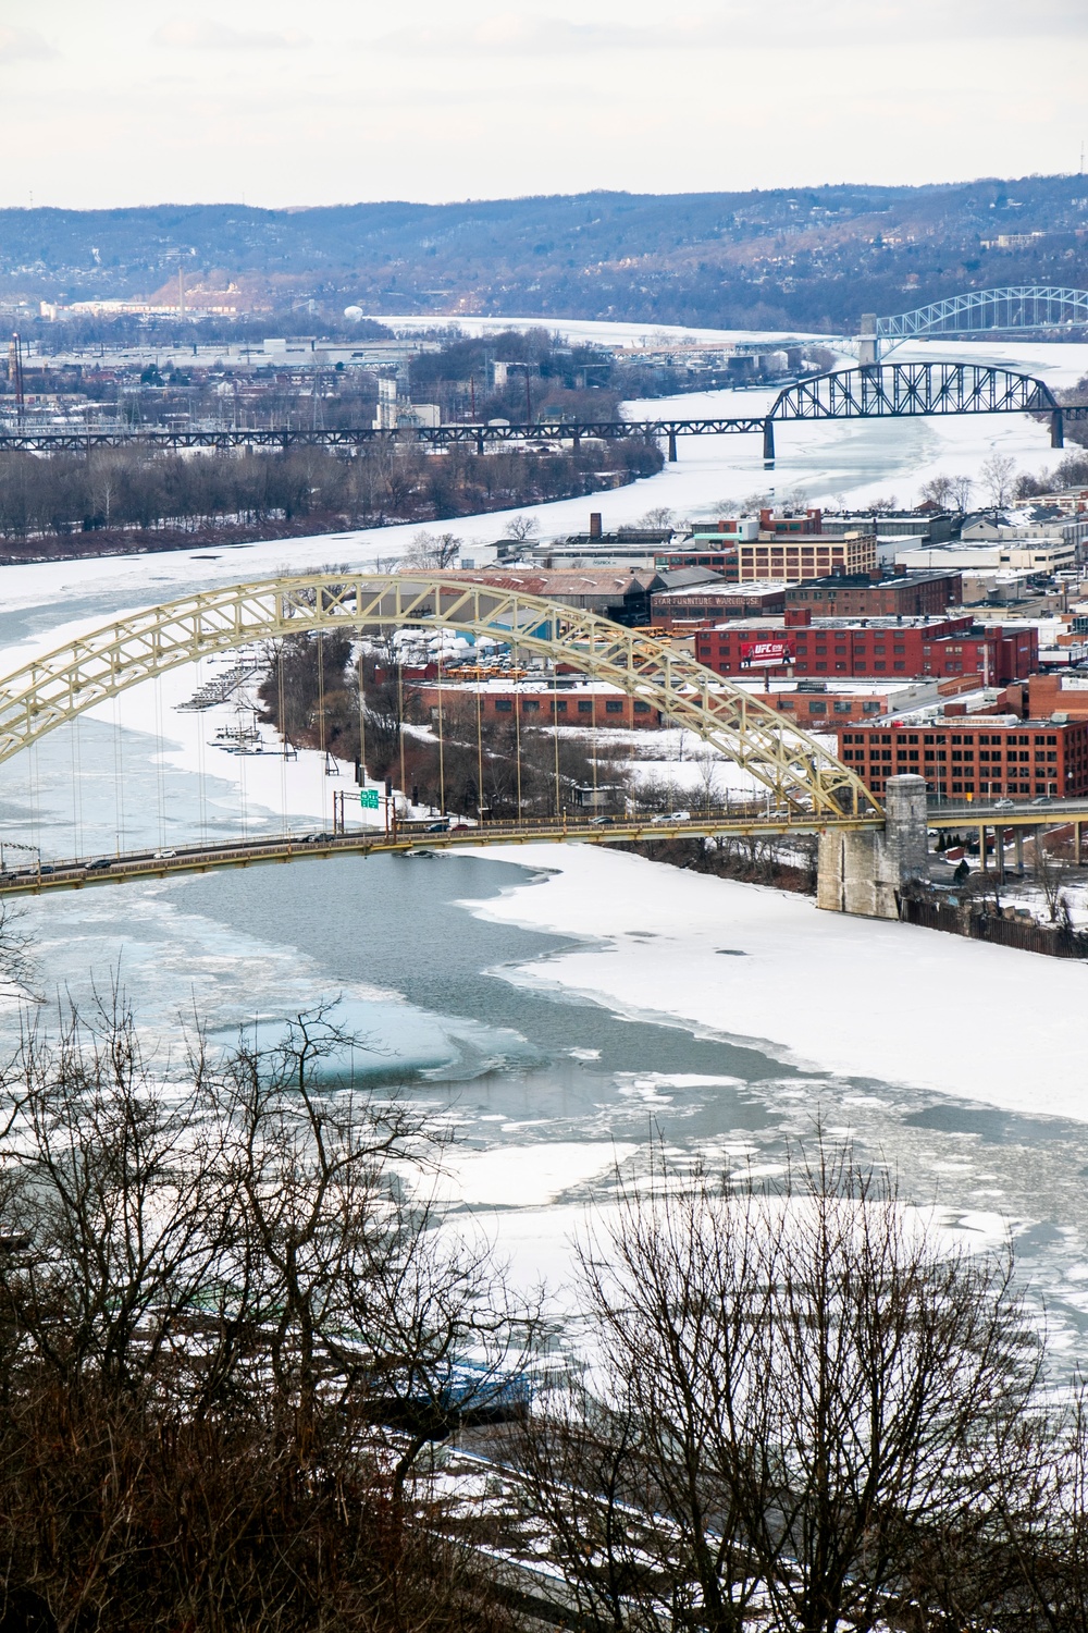
[[899, 918], [902, 887], [930, 877], [925, 777], [889, 777], [884, 831], [822, 833], [816, 905], [860, 918]]

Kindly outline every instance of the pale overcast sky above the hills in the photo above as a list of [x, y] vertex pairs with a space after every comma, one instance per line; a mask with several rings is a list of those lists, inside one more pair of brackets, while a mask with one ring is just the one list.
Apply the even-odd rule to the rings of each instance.
[[1088, 0], [0, 0], [0, 204], [1072, 171]]

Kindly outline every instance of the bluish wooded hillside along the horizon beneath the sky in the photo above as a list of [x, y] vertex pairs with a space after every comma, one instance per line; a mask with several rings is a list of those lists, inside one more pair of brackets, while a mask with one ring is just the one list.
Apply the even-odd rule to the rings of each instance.
[[181, 263], [194, 284], [235, 281], [250, 302], [313, 302], [315, 317], [357, 304], [840, 331], [861, 312], [967, 287], [1083, 287], [1086, 234], [1086, 176], [290, 211], [8, 209], [0, 300], [150, 296]]

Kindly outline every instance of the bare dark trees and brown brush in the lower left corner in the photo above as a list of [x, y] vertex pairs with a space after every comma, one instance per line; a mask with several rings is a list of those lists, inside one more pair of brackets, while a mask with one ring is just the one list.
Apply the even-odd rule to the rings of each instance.
[[347, 1048], [318, 1012], [165, 1073], [116, 1001], [26, 1037], [2, 1086], [5, 1628], [499, 1625], [414, 1475], [509, 1393], [525, 1329], [486, 1253], [434, 1230], [421, 1120], [346, 1065], [318, 1086]]

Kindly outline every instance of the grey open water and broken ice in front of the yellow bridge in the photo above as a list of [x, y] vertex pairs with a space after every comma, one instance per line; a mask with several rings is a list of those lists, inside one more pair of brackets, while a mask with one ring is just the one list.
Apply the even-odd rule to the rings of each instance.
[[[86, 1008], [119, 975], [160, 1060], [197, 1014], [228, 1045], [333, 999], [359, 1040], [333, 1076], [406, 1094], [455, 1135], [450, 1200], [501, 1243], [512, 1233], [527, 1279], [561, 1272], [556, 1233], [607, 1202], [615, 1166], [639, 1166], [651, 1140], [773, 1174], [819, 1115], [979, 1244], [1008, 1228], [1055, 1350], [1085, 1355], [1088, 1125], [804, 1071], [770, 1045], [546, 990], [522, 972], [546, 972], [569, 939], [473, 911], [533, 877], [529, 857], [339, 857], [57, 895], [26, 923], [46, 1024], [54, 1001]], [[13, 1045], [13, 1012], [3, 1034]]]

